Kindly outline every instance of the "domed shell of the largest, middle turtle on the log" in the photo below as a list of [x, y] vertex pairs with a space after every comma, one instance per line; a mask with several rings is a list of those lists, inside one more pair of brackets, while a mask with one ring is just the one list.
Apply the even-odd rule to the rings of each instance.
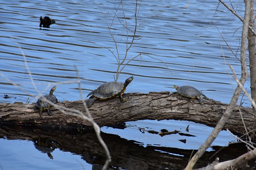
[[91, 91], [88, 96], [93, 95], [99, 100], [112, 99], [123, 94], [126, 90], [124, 83], [121, 82], [107, 82], [100, 85], [97, 89]]

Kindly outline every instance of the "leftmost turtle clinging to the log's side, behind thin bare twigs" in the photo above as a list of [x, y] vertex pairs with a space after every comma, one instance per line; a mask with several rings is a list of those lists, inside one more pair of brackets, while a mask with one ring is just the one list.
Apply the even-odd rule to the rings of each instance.
[[34, 110], [35, 109], [39, 109], [39, 114], [40, 114], [40, 116], [41, 116], [41, 114], [42, 114], [42, 110], [44, 110], [44, 109], [47, 109], [47, 111], [48, 111], [48, 114], [49, 115], [52, 115], [52, 112], [50, 111], [50, 106], [51, 106], [51, 104], [50, 103], [48, 103], [46, 100], [48, 100], [48, 101], [50, 101], [50, 102], [52, 102], [52, 103], [55, 103], [55, 102], [58, 102], [58, 99], [56, 98], [56, 96], [53, 94], [53, 92], [55, 91], [55, 89], [56, 89], [56, 86], [54, 86], [51, 90], [50, 90], [50, 93], [49, 94], [45, 94], [44, 96], [41, 96], [38, 100], [37, 100], [37, 102], [36, 102], [36, 104], [35, 104], [35, 106], [34, 106]]

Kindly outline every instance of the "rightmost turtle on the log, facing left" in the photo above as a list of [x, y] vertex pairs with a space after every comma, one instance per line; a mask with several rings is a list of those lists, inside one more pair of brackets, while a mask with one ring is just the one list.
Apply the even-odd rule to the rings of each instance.
[[196, 89], [195, 87], [192, 86], [181, 86], [178, 87], [174, 85], [174, 88], [178, 91], [179, 94], [191, 98], [191, 99], [198, 99], [201, 104], [204, 104], [205, 100], [203, 98], [208, 99], [202, 91]]

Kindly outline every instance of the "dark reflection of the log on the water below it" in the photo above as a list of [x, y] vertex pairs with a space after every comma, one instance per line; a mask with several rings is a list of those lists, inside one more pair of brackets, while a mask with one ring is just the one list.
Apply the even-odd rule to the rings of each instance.
[[[94, 131], [91, 132], [56, 132], [40, 129], [4, 126], [0, 128], [0, 136], [5, 139], [30, 140], [38, 152], [45, 153], [49, 159], [55, 159], [52, 153], [56, 149], [80, 155], [81, 159], [93, 165], [92, 169], [104, 164], [105, 154], [98, 143]], [[148, 145], [143, 147], [134, 140], [126, 140], [117, 135], [101, 133], [108, 146], [112, 162], [109, 169], [182, 169], [196, 151], [171, 147]], [[32, 143], [31, 143], [32, 144]], [[216, 157], [220, 161], [237, 158], [247, 152], [243, 143], [229, 143], [228, 147], [213, 146], [212, 151], [206, 152], [198, 161], [196, 167], [206, 166]], [[254, 162], [248, 162], [253, 166]], [[246, 168], [244, 168], [246, 169]], [[251, 169], [248, 168], [248, 169]]]

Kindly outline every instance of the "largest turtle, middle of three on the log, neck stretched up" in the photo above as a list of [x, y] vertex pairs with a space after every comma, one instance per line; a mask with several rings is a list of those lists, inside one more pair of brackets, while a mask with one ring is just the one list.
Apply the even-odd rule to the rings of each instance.
[[102, 85], [100, 85], [97, 89], [91, 91], [88, 95], [92, 95], [90, 99], [86, 101], [87, 106], [90, 107], [93, 102], [98, 100], [107, 100], [107, 99], [113, 99], [117, 98], [118, 96], [121, 99], [121, 102], [126, 102], [126, 99], [123, 98], [122, 94], [126, 90], [126, 87], [128, 84], [130, 84], [133, 81], [133, 76], [126, 79], [124, 83], [121, 82], [106, 82]]

